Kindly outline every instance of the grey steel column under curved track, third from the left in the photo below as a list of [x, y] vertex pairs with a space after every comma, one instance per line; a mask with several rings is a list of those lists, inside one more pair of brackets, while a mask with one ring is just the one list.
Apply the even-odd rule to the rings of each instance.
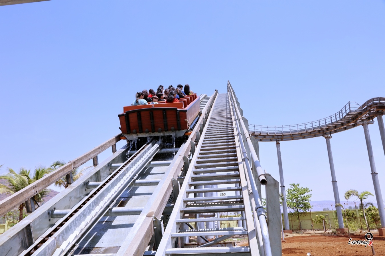
[[369, 127], [368, 127], [367, 124], [363, 124], [362, 127], [363, 127], [363, 131], [365, 133], [366, 147], [368, 149], [370, 170], [372, 171], [374, 193], [376, 195], [376, 200], [377, 200], [377, 208], [378, 208], [378, 212], [380, 213], [380, 219], [381, 219], [382, 228], [384, 228], [385, 227], [384, 203], [383, 203], [383, 200], [382, 200], [380, 181], [378, 180], [378, 173], [377, 173], [376, 165], [375, 165], [375, 162], [374, 162], [372, 142], [370, 141], [370, 135], [369, 135]]

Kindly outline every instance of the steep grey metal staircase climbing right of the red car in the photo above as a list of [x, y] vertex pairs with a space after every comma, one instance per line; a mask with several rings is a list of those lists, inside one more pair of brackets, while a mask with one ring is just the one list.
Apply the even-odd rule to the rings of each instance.
[[[229, 98], [227, 94], [219, 94], [208, 124], [202, 131], [203, 140], [198, 143], [198, 154], [192, 157], [156, 256], [203, 253], [259, 255], [253, 210], [235, 128]], [[224, 196], [218, 197], [218, 192]], [[205, 218], [208, 214], [215, 216], [215, 213], [227, 211], [239, 212], [241, 217]], [[218, 227], [219, 219], [237, 220], [238, 227]], [[194, 222], [194, 229], [186, 225]], [[248, 235], [250, 246], [212, 247], [235, 235]], [[194, 237], [199, 247], [187, 247], [193, 246], [189, 239]], [[205, 243], [205, 239], [214, 240]]]

